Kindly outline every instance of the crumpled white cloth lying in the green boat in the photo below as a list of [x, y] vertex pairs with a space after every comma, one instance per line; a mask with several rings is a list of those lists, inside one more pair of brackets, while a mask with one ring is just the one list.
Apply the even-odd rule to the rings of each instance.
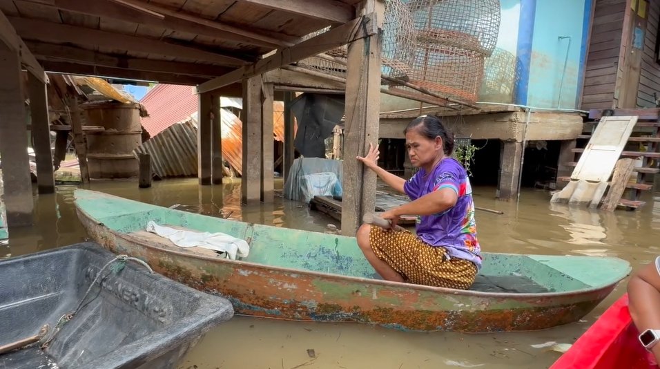
[[224, 252], [232, 260], [236, 257], [245, 258], [250, 253], [250, 245], [240, 238], [229, 236], [224, 233], [208, 233], [196, 231], [184, 231], [183, 229], [174, 229], [157, 225], [150, 220], [146, 225], [146, 230], [158, 236], [168, 238], [179, 247], [203, 247], [219, 252]]

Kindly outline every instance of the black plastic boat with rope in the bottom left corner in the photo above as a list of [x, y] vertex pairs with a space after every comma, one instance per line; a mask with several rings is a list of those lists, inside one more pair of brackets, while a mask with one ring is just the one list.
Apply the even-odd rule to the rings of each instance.
[[[79, 243], [0, 261], [0, 346], [46, 324], [48, 337], [115, 256]], [[47, 348], [35, 343], [0, 354], [0, 368], [174, 368], [204, 333], [233, 316], [222, 297], [124, 263], [103, 269]]]

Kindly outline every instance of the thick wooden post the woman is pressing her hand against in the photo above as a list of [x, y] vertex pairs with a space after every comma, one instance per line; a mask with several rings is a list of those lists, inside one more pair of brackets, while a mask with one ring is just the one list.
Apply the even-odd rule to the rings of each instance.
[[[384, 3], [366, 0], [360, 8], [360, 12], [375, 14], [381, 28]], [[351, 42], [348, 48], [342, 178], [342, 234], [346, 236], [355, 236], [362, 216], [376, 208], [376, 174], [356, 156], [366, 155], [369, 143], [378, 145], [381, 43], [382, 33], [376, 32]]]

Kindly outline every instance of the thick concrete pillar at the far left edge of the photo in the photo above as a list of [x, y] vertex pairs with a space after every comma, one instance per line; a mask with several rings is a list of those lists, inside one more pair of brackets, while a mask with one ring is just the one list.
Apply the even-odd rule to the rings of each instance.
[[0, 156], [7, 225], [32, 225], [35, 204], [21, 61], [19, 54], [5, 44], [0, 45], [0, 86]]

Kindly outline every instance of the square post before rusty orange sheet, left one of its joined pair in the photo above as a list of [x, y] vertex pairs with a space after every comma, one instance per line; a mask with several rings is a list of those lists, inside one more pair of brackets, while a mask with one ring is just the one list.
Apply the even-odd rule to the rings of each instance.
[[245, 205], [261, 200], [262, 173], [262, 77], [243, 82], [243, 162], [241, 198]]

